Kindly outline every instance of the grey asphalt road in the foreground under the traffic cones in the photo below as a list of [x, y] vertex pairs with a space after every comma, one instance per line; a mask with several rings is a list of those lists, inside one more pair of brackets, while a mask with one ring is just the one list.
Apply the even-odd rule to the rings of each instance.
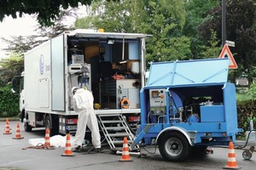
[[[20, 122], [19, 122], [20, 123]], [[3, 134], [5, 122], [0, 122], [0, 170], [217, 170], [223, 169], [228, 161], [228, 148], [213, 148], [213, 154], [192, 155], [183, 162], [165, 161], [159, 154], [155, 154], [154, 147], [142, 149], [145, 157], [131, 156], [132, 161], [119, 161], [121, 156], [114, 155], [108, 147], [104, 147], [102, 153], [89, 154], [88, 152], [73, 153], [75, 156], [61, 156], [65, 148], [57, 147], [54, 150], [38, 150], [27, 148], [32, 146], [29, 139], [42, 139], [45, 130], [33, 129], [26, 133], [20, 123], [20, 135], [24, 139], [13, 139], [15, 137], [17, 122], [10, 122], [12, 134]], [[22, 150], [27, 148], [26, 150]], [[250, 161], [242, 158], [243, 150], [235, 150], [236, 162], [241, 169], [255, 169], [256, 156]], [[150, 153], [148, 153], [150, 152]]]

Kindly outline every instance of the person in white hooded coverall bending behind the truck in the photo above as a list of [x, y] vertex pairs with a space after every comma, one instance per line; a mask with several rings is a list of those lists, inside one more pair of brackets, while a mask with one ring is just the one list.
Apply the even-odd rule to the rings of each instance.
[[79, 114], [74, 147], [82, 146], [86, 126], [90, 128], [91, 142], [95, 148], [101, 148], [101, 135], [93, 108], [93, 95], [84, 88], [79, 88], [73, 95], [73, 109]]

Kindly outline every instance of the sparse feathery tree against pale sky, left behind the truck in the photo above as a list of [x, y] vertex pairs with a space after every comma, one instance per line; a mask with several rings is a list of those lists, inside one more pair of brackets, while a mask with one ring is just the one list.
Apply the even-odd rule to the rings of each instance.
[[67, 31], [68, 27], [63, 24], [63, 20], [65, 20], [67, 16], [74, 16], [75, 12], [73, 8], [61, 10], [60, 18], [55, 20], [53, 26], [47, 27], [38, 25], [38, 35], [11, 37], [11, 39], [2, 38], [3, 41], [8, 44], [8, 48], [4, 48], [4, 50], [10, 54], [9, 58], [3, 59], [0, 62], [0, 65], [3, 66], [3, 69], [0, 70], [0, 83], [4, 86], [11, 81], [14, 76], [20, 75], [20, 73], [24, 71], [24, 53], [47, 41], [49, 38], [55, 37], [63, 31]]

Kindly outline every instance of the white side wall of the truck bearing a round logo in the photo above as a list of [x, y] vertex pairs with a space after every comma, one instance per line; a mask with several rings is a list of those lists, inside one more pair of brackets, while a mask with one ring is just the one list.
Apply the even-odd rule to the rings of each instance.
[[51, 111], [50, 108], [50, 42], [25, 54], [26, 111]]

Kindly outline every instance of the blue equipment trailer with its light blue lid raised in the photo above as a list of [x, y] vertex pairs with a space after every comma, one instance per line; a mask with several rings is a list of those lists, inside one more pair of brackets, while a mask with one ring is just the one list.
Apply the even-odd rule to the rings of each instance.
[[236, 142], [236, 87], [228, 82], [229, 59], [152, 63], [140, 91], [136, 144], [157, 144], [167, 161], [191, 150]]

